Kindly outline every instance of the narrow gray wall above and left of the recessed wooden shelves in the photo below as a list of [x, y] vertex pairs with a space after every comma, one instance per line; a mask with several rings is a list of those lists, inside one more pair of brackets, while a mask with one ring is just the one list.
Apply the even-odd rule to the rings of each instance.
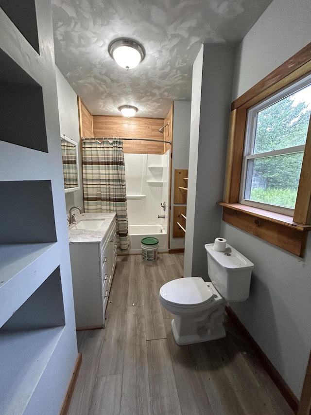
[[188, 169], [191, 103], [174, 101], [170, 249], [185, 247], [185, 238], [173, 238], [174, 169]]

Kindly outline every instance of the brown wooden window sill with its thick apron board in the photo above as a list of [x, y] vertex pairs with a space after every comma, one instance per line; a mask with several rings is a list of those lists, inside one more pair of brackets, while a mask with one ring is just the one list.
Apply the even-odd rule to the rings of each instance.
[[240, 203], [218, 204], [223, 206], [225, 222], [303, 258], [311, 225], [294, 222], [291, 216]]

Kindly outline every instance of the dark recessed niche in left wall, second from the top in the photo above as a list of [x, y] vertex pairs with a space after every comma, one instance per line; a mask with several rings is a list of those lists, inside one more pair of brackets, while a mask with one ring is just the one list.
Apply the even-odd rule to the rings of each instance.
[[42, 87], [1, 49], [0, 68], [0, 139], [47, 153]]

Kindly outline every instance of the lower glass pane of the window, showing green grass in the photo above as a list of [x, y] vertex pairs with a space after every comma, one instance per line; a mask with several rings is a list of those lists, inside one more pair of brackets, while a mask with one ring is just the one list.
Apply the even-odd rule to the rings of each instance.
[[245, 198], [294, 209], [303, 153], [249, 160]]

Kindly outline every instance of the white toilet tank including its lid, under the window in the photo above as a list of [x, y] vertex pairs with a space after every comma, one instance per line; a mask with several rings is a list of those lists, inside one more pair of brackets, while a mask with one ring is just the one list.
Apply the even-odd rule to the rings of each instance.
[[254, 264], [230, 245], [216, 252], [214, 244], [206, 244], [207, 271], [214, 287], [227, 301], [244, 301], [249, 296]]

